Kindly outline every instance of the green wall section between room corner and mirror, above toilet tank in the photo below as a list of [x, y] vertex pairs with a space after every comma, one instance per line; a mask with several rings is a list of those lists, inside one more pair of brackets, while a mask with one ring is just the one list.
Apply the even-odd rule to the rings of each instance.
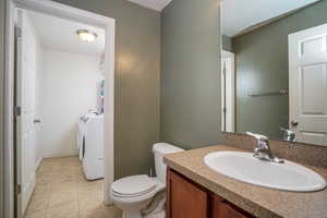
[[219, 143], [219, 23], [218, 0], [174, 0], [161, 14], [161, 141]]

